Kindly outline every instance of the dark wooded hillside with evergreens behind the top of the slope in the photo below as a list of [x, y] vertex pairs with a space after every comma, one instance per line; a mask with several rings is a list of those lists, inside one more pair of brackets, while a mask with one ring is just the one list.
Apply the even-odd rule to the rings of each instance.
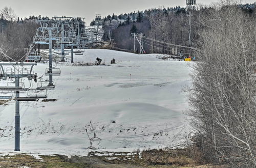
[[[236, 5], [243, 13], [254, 16], [254, 4]], [[208, 15], [215, 7], [197, 6], [190, 10], [191, 17], [191, 46], [197, 46], [199, 32], [204, 29], [200, 17]], [[145, 11], [132, 12], [129, 14], [113, 14], [102, 18], [104, 29], [104, 40], [110, 39], [111, 32], [117, 48], [133, 51], [134, 40], [131, 33], [142, 33], [146, 37], [160, 40], [166, 43], [190, 46], [188, 42], [189, 32], [189, 9], [182, 7], [175, 8], [154, 8]], [[93, 20], [91, 25], [95, 24]], [[136, 42], [136, 50], [139, 50], [139, 43]], [[168, 53], [167, 45], [144, 41], [146, 53]]]

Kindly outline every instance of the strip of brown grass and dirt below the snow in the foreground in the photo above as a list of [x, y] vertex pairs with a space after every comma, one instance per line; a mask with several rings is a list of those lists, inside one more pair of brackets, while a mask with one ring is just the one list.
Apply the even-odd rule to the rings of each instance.
[[212, 167], [202, 165], [185, 154], [186, 150], [148, 150], [137, 152], [89, 153], [89, 156], [33, 156], [20, 154], [0, 157], [2, 167]]

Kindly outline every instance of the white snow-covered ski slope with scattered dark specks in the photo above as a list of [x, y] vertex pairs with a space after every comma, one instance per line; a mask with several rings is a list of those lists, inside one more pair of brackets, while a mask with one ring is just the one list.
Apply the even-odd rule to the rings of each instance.
[[[175, 147], [185, 141], [191, 131], [182, 92], [190, 83], [188, 63], [102, 49], [86, 49], [74, 61], [97, 57], [106, 65], [58, 64], [61, 76], [54, 76], [56, 88], [48, 97], [57, 101], [20, 103], [22, 152], [86, 155], [86, 129], [94, 136], [90, 121], [102, 139], [92, 141], [99, 150]], [[113, 58], [118, 63], [110, 65]], [[34, 72], [41, 76], [47, 65], [38, 64]], [[14, 149], [14, 113], [14, 101], [0, 106], [0, 153]]]

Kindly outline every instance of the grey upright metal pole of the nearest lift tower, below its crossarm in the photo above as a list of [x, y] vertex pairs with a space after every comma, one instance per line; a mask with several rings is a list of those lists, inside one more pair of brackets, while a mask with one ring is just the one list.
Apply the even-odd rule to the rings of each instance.
[[[15, 78], [15, 87], [19, 88], [19, 77]], [[15, 148], [14, 151], [20, 151], [19, 143], [20, 143], [20, 119], [19, 119], [19, 101], [17, 98], [19, 97], [19, 91], [16, 91], [16, 102], [15, 102]]]

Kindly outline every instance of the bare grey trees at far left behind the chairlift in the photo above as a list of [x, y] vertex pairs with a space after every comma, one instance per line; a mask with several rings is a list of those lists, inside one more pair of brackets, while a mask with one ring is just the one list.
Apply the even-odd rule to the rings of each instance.
[[[11, 61], [22, 58], [28, 51], [36, 29], [39, 27], [37, 19], [48, 17], [29, 16], [20, 19], [11, 8], [5, 7], [0, 11], [0, 60]], [[37, 46], [35, 46], [37, 47]]]

